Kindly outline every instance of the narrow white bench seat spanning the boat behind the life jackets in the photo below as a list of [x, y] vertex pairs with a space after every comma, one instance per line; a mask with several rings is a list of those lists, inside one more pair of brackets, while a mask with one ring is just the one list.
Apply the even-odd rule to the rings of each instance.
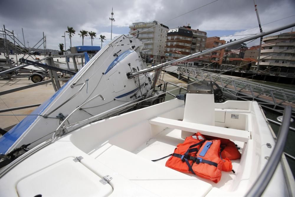
[[203, 125], [198, 123], [190, 123], [185, 121], [178, 121], [169, 118], [155, 117], [149, 120], [151, 125], [163, 126], [168, 128], [180, 129], [191, 133], [200, 132], [203, 135], [231, 139], [241, 142], [247, 142], [251, 139], [250, 131], [223, 128], [218, 126]]

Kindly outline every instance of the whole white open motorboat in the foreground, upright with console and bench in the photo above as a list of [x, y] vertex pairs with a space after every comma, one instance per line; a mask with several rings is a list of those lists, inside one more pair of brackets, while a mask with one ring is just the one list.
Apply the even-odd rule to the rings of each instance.
[[[196, 132], [237, 144], [242, 156], [232, 160], [235, 173], [222, 172], [220, 181], [214, 183], [165, 167], [168, 158], [151, 161], [173, 153], [185, 137]], [[281, 134], [276, 142], [256, 101], [214, 103], [212, 82], [193, 82], [186, 101], [173, 99], [64, 135], [56, 131], [50, 141], [1, 170], [0, 195], [294, 196], [289, 165], [282, 152], [276, 154], [286, 132], [281, 130], [284, 137]], [[268, 183], [263, 172], [272, 159], [279, 164], [271, 163], [274, 169], [266, 175], [275, 172]], [[257, 182], [260, 179], [267, 187]]]

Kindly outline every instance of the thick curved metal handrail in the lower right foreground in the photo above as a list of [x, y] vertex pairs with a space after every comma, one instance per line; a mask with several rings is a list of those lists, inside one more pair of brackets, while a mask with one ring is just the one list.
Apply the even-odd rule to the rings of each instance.
[[259, 178], [255, 181], [253, 187], [250, 188], [246, 196], [261, 196], [266, 189], [269, 181], [271, 180], [278, 166], [278, 163], [281, 161], [283, 149], [289, 131], [291, 109], [291, 106], [285, 107], [285, 111], [283, 114], [283, 123], [278, 131], [278, 141], [276, 142], [276, 145], [266, 166], [263, 168], [261, 174], [259, 175]]

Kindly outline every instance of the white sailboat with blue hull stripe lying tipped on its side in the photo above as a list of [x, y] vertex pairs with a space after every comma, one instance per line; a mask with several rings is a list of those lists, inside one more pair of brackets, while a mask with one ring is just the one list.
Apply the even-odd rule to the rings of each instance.
[[[143, 44], [129, 35], [114, 38], [63, 87], [0, 138], [0, 154], [21, 146], [30, 148], [49, 139], [54, 128], [74, 109], [66, 125], [152, 95], [153, 74], [128, 79], [127, 72], [146, 69]], [[97, 97], [101, 95], [100, 97]]]

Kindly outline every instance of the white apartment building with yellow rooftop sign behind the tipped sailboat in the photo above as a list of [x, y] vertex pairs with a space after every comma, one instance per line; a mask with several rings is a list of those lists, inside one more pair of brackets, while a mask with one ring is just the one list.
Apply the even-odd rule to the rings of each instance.
[[135, 22], [129, 26], [130, 32], [134, 35], [139, 30], [138, 39], [144, 44], [143, 50], [149, 50], [148, 55], [154, 58], [155, 62], [161, 62], [165, 58], [165, 45], [169, 28], [157, 21]]

